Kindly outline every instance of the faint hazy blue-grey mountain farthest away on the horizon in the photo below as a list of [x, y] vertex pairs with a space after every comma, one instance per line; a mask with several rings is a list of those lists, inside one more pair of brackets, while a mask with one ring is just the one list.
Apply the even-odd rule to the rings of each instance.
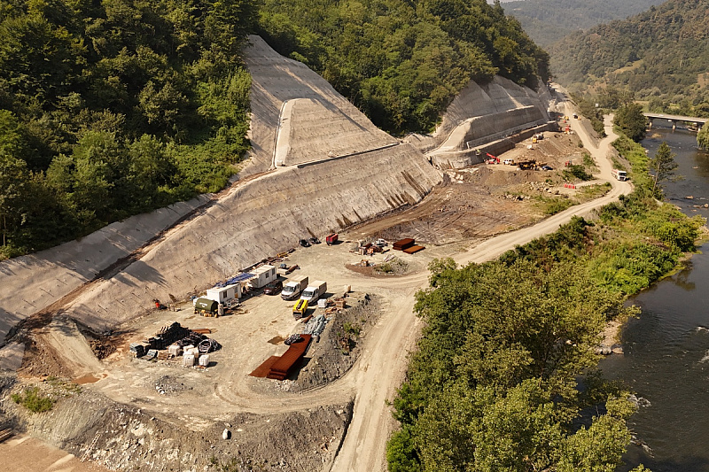
[[565, 35], [644, 12], [661, 0], [516, 0], [503, 4], [534, 43], [543, 47]]

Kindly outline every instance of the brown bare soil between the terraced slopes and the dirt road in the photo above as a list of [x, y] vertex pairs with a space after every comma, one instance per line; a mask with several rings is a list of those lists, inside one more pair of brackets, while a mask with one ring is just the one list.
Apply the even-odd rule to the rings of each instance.
[[[504, 154], [505, 159], [535, 159], [552, 171], [518, 170], [517, 166], [480, 164], [470, 169], [448, 171], [415, 207], [402, 209], [348, 231], [353, 238], [384, 238], [396, 241], [413, 237], [423, 244], [450, 244], [480, 240], [522, 228], [543, 217], [534, 196], [565, 198], [562, 191], [530, 191], [529, 182], [545, 182], [563, 189], [560, 170], [566, 161], [582, 162], [583, 150], [577, 135], [545, 134], [539, 143], [518, 143]], [[527, 149], [533, 146], [533, 149]], [[360, 269], [354, 269], [361, 272]]]

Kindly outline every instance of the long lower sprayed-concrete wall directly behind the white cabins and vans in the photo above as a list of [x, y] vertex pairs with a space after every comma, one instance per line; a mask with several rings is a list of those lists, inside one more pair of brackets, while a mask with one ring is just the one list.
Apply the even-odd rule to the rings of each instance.
[[408, 143], [280, 167], [245, 183], [121, 274], [77, 298], [68, 314], [95, 329], [143, 314], [152, 298], [184, 298], [239, 269], [401, 205], [413, 205], [440, 181]]

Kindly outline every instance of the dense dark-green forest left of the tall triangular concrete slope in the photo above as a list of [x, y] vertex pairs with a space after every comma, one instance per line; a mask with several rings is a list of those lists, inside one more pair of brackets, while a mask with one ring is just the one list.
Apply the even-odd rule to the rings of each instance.
[[0, 0], [12, 256], [220, 190], [247, 149], [253, 0]]

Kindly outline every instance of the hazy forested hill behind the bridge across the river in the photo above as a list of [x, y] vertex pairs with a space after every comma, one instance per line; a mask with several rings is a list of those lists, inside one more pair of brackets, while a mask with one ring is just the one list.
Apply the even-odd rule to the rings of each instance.
[[651, 110], [709, 116], [709, 0], [670, 0], [568, 36], [551, 55], [569, 87], [604, 83], [649, 100]]

